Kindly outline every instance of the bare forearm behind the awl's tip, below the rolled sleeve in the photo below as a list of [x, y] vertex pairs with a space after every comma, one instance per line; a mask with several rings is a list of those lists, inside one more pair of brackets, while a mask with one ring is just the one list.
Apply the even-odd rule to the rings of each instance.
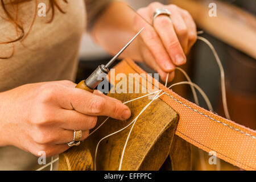
[[[92, 29], [94, 40], [114, 55], [134, 36], [134, 16], [135, 13], [126, 3], [114, 1], [94, 24]], [[140, 61], [138, 40], [135, 39], [121, 56]]]

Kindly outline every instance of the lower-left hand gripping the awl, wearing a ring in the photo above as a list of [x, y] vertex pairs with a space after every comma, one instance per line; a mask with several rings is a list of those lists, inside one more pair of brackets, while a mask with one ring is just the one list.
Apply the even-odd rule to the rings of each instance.
[[41, 82], [0, 93], [0, 146], [57, 155], [69, 148], [73, 130], [82, 130], [81, 140], [88, 137], [98, 115], [130, 117], [121, 101], [75, 86], [71, 81]]

